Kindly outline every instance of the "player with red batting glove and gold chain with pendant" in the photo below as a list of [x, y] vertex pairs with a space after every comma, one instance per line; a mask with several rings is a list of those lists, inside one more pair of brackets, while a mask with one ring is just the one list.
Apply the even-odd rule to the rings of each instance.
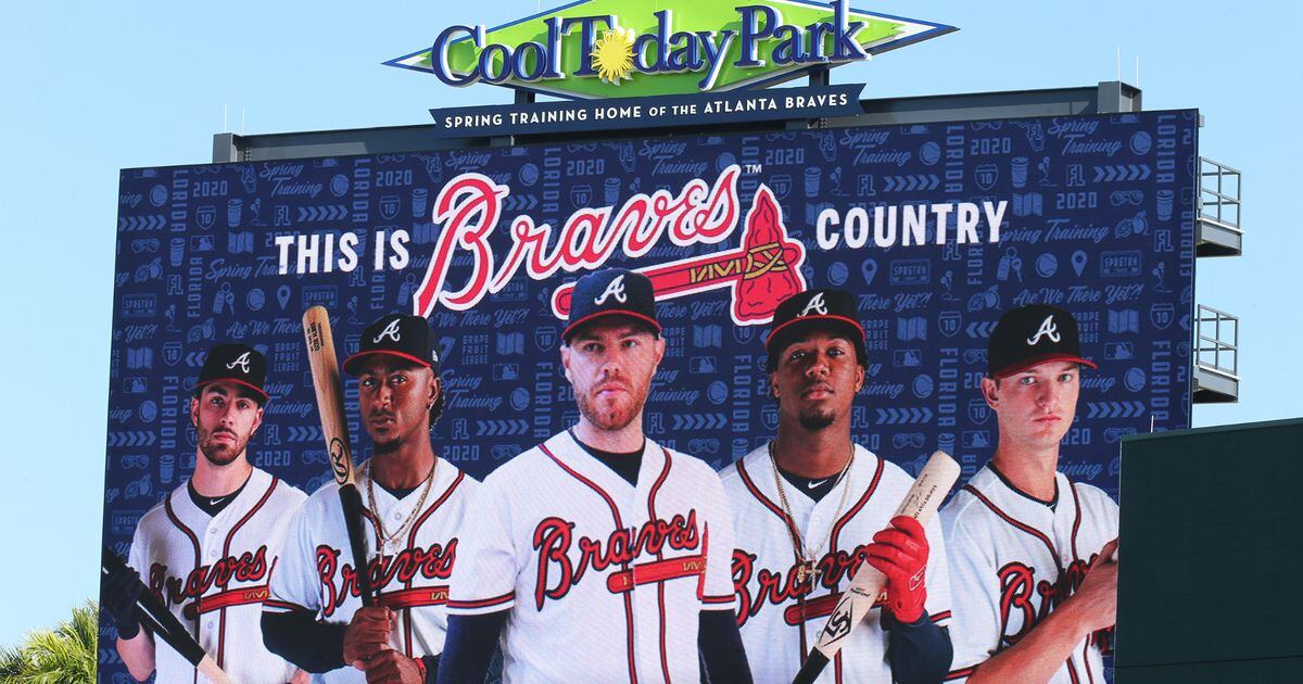
[[868, 354], [855, 298], [816, 289], [778, 305], [765, 339], [778, 434], [722, 472], [734, 582], [756, 681], [791, 681], [865, 563], [887, 576], [865, 623], [817, 681], [941, 681], [950, 581], [941, 525], [893, 517], [913, 483], [851, 440]]

